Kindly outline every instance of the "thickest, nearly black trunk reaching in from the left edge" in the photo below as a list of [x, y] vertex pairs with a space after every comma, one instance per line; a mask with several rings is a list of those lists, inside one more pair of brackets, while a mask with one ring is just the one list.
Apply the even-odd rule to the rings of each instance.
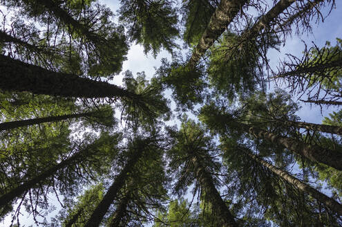
[[140, 98], [113, 84], [80, 78], [68, 73], [57, 73], [0, 55], [0, 89], [29, 91], [35, 94], [82, 98]]

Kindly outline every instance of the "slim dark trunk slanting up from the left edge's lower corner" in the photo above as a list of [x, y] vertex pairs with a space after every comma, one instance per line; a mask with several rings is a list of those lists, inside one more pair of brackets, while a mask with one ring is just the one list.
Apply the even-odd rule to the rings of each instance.
[[68, 165], [72, 165], [77, 159], [82, 158], [83, 152], [78, 152], [77, 154], [74, 154], [70, 158], [61, 161], [59, 164], [55, 165], [54, 167], [50, 167], [48, 170], [42, 172], [38, 176], [35, 176], [35, 178], [31, 179], [30, 181], [27, 181], [25, 183], [22, 183], [21, 185], [17, 186], [17, 188], [13, 188], [10, 190], [10, 192], [7, 192], [6, 194], [3, 194], [0, 196], [0, 208], [6, 206], [8, 203], [10, 203], [12, 200], [14, 200], [17, 197], [20, 197], [21, 194], [24, 192], [27, 192], [30, 190], [30, 188], [34, 188], [37, 183], [44, 181], [50, 176], [53, 176], [55, 172], [58, 170], [63, 169], [64, 167]]

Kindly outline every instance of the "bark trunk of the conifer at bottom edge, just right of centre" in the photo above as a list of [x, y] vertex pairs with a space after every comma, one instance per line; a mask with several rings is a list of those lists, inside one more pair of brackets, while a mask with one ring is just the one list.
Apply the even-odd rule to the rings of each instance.
[[195, 166], [196, 179], [200, 182], [202, 190], [205, 191], [206, 198], [213, 208], [213, 212], [218, 217], [218, 223], [222, 227], [236, 227], [238, 226], [234, 220], [233, 215], [227, 208], [225, 201], [222, 200], [220, 193], [216, 190], [213, 184], [211, 174], [205, 170], [205, 167], [201, 165], [197, 156], [193, 156], [193, 165]]

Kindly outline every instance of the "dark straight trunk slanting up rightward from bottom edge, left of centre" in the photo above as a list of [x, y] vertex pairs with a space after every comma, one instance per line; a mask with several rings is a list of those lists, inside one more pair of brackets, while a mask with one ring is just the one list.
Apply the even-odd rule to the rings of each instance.
[[106, 215], [106, 212], [113, 203], [115, 197], [117, 197], [117, 192], [119, 192], [119, 190], [124, 186], [124, 183], [128, 178], [129, 173], [132, 171], [132, 168], [141, 156], [141, 150], [138, 150], [137, 152], [133, 153], [133, 156], [131, 156], [131, 158], [126, 163], [120, 174], [115, 177], [113, 184], [104, 195], [102, 201], [99, 202], [99, 205], [97, 205], [97, 208], [94, 210], [93, 214], [91, 215], [90, 219], [87, 221], [84, 227], [99, 226], [104, 215]]

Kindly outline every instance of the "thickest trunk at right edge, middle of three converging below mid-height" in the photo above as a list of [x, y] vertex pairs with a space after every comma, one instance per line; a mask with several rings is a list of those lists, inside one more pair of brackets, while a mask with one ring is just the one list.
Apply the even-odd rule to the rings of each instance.
[[336, 170], [342, 170], [342, 152], [324, 149], [315, 145], [307, 145], [293, 138], [278, 136], [263, 129], [251, 127], [243, 123], [240, 124], [245, 128], [245, 131], [249, 131], [249, 133], [256, 138], [263, 138], [274, 144], [281, 144], [292, 152], [300, 154], [310, 161], [329, 165], [334, 167]]

